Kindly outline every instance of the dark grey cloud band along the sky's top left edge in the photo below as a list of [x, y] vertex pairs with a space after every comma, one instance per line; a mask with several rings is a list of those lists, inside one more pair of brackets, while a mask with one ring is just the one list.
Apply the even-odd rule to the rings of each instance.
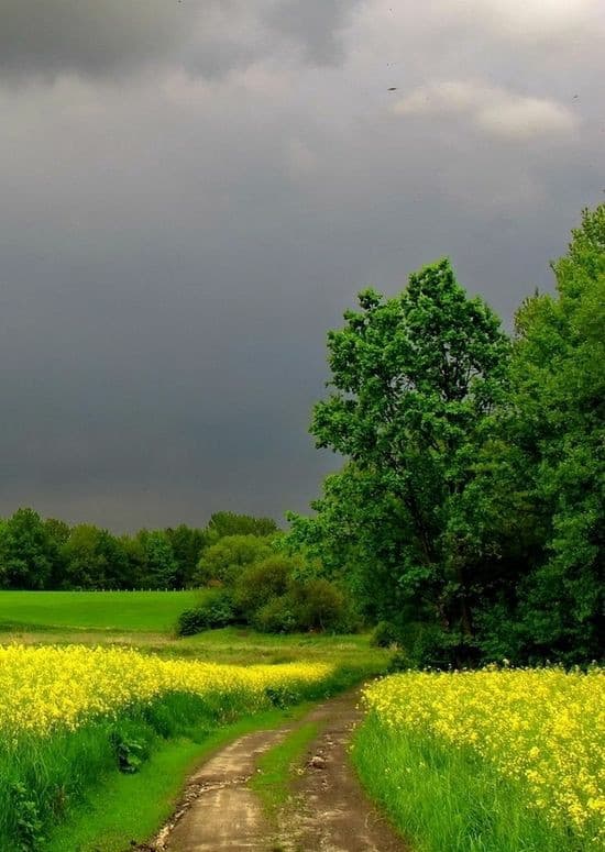
[[356, 0], [0, 0], [0, 75], [123, 76], [162, 63], [216, 78], [294, 42], [309, 62], [342, 58]]

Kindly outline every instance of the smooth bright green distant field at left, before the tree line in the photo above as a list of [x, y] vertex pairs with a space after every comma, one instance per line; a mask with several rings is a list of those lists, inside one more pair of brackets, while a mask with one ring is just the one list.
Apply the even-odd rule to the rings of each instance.
[[195, 606], [189, 591], [0, 591], [0, 630], [170, 633], [180, 612]]

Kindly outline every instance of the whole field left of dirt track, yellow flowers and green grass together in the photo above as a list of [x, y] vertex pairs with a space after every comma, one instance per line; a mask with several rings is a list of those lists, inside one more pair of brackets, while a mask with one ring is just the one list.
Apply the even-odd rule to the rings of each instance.
[[367, 635], [176, 638], [178, 613], [202, 597], [0, 594], [2, 852], [142, 842], [205, 754], [386, 670]]

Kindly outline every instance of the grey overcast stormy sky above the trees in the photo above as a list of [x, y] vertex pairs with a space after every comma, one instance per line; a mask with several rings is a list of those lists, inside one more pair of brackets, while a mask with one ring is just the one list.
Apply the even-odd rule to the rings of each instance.
[[0, 514], [304, 510], [360, 289], [552, 287], [604, 36], [602, 0], [0, 0]]

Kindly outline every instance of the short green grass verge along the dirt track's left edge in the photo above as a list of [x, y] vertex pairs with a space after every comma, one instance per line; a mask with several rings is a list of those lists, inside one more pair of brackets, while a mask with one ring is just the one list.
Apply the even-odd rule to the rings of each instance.
[[[300, 718], [305, 702], [268, 710], [198, 738], [165, 743], [135, 775], [113, 774], [78, 806], [45, 843], [45, 852], [123, 852], [131, 840], [148, 840], [167, 821], [187, 777], [213, 751], [254, 730], [270, 730]], [[201, 742], [198, 740], [201, 738]]]

